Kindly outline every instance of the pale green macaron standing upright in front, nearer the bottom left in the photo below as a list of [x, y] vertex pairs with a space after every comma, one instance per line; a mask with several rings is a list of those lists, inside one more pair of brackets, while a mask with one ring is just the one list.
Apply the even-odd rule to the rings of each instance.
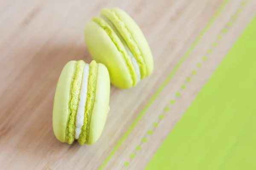
[[60, 142], [94, 144], [102, 134], [109, 112], [110, 77], [96, 61], [68, 62], [56, 86], [52, 126]]

